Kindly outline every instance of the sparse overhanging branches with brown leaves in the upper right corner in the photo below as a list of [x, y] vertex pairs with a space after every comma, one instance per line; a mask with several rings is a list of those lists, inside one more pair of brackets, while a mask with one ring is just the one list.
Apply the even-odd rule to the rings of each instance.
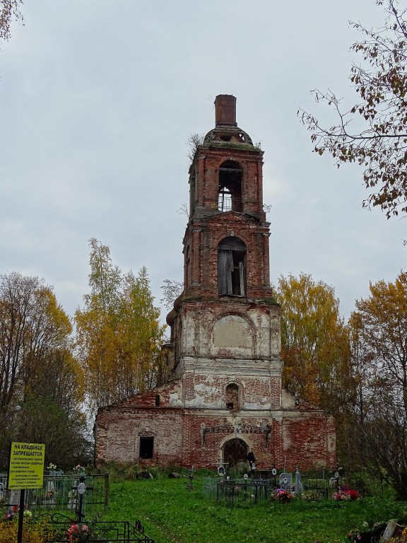
[[379, 206], [389, 218], [407, 212], [407, 22], [398, 1], [376, 3], [386, 4], [382, 28], [351, 23], [363, 36], [351, 47], [363, 61], [350, 70], [358, 101], [343, 107], [334, 93], [315, 90], [317, 102], [334, 108], [334, 125], [324, 127], [304, 110], [298, 115], [312, 132], [315, 153], [331, 154], [338, 167], [355, 162], [365, 168], [370, 195], [363, 204]]

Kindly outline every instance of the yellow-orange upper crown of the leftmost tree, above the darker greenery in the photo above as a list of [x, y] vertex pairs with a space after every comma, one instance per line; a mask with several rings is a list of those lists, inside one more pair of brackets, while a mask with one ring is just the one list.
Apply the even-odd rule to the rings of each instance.
[[44, 281], [15, 271], [0, 276], [0, 413], [41, 392], [45, 380], [49, 393], [57, 394], [63, 374], [79, 375], [71, 332], [69, 317]]

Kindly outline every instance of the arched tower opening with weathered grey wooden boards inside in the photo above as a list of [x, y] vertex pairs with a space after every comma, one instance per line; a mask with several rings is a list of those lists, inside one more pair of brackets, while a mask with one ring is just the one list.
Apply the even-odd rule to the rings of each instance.
[[239, 238], [225, 238], [218, 247], [218, 294], [244, 296], [246, 246]]

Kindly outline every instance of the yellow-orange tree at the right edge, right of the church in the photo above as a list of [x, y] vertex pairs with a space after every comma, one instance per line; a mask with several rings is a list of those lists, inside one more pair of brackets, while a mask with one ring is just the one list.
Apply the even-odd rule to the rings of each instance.
[[370, 284], [350, 317], [357, 383], [353, 450], [407, 498], [407, 275]]

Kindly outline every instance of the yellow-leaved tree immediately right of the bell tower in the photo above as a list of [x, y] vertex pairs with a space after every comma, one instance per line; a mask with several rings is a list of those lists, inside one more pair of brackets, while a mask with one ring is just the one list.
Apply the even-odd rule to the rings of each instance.
[[283, 385], [330, 410], [346, 405], [350, 378], [348, 332], [334, 288], [310, 275], [280, 277]]

